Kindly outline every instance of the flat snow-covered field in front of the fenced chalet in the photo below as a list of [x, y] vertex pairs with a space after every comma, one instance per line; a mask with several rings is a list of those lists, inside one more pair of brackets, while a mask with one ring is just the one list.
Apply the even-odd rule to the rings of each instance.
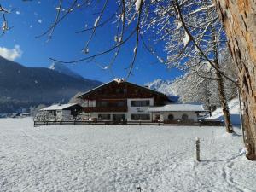
[[0, 119], [0, 191], [256, 191], [256, 163], [235, 130]]

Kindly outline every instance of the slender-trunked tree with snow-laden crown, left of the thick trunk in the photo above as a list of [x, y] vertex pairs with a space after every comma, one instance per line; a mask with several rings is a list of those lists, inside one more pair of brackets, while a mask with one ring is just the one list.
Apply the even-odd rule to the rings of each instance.
[[[156, 8], [153, 12], [156, 16], [152, 17], [153, 21], [145, 21], [143, 24], [149, 29], [153, 28], [155, 33], [160, 34], [161, 40], [166, 42], [166, 65], [180, 69], [190, 67], [201, 79], [206, 80], [206, 84], [209, 79], [216, 80], [226, 131], [233, 132], [224, 93], [224, 78], [233, 82], [235, 80], [220, 70], [218, 55], [226, 49], [226, 38], [214, 4], [209, 0], [154, 2]], [[200, 74], [203, 67], [200, 66], [204, 66], [206, 62], [212, 69], [211, 73], [204, 73], [203, 77]]]

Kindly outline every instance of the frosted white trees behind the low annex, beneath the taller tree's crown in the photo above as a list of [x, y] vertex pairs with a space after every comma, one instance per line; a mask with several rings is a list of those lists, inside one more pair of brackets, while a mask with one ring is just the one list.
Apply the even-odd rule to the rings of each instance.
[[[234, 64], [233, 61], [230, 61], [229, 53], [224, 51], [219, 57], [221, 69], [229, 69], [227, 70], [228, 74], [235, 75], [236, 72], [232, 71]], [[205, 108], [212, 110], [221, 106], [216, 76], [216, 72], [208, 63], [201, 63], [189, 67], [182, 77], [175, 79], [172, 84], [166, 85], [166, 90], [169, 90], [170, 93], [174, 91], [179, 96], [180, 102], [202, 102]], [[237, 94], [236, 85], [225, 79], [223, 83], [224, 96], [229, 101]], [[162, 88], [160, 87], [160, 89]]]

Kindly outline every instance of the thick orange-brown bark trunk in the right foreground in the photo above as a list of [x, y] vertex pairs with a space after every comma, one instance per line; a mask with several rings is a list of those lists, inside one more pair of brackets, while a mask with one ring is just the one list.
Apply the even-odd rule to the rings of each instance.
[[247, 158], [256, 160], [256, 2], [215, 0], [238, 69]]

